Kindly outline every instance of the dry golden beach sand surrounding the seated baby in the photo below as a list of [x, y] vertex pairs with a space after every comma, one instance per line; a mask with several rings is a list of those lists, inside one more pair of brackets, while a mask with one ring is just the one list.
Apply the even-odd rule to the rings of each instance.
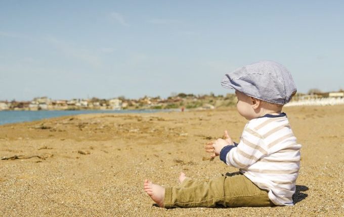
[[[344, 106], [287, 107], [303, 145], [291, 207], [154, 206], [143, 180], [176, 185], [237, 169], [210, 161], [203, 145], [245, 120], [222, 111], [97, 114], [0, 126], [0, 215], [343, 216]], [[13, 159], [15, 158], [15, 159]]]

